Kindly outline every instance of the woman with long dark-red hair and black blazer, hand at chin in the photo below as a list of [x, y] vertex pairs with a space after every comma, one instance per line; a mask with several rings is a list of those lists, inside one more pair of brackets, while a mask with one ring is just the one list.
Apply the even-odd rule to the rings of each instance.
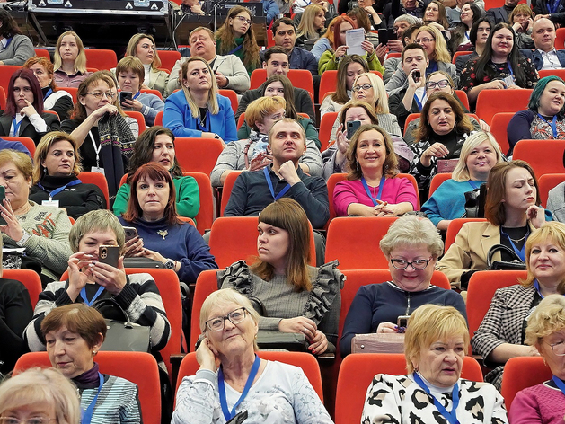
[[57, 115], [43, 110], [40, 83], [29, 69], [18, 69], [10, 77], [6, 109], [1, 113], [0, 137], [30, 137], [36, 145], [60, 126]]

